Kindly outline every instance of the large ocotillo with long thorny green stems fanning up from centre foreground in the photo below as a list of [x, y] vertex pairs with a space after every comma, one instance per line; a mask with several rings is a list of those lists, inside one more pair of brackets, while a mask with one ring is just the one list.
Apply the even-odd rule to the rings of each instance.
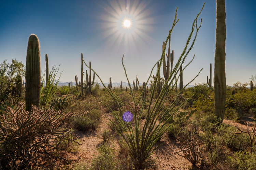
[[[203, 9], [203, 7], [202, 7], [202, 9]], [[202, 9], [201, 9], [201, 11], [202, 11]], [[143, 91], [146, 89], [145, 88], [142, 89], [142, 93], [140, 95], [139, 101], [136, 102], [134, 99], [133, 90], [130, 86], [130, 81], [127, 77], [125, 66], [123, 63], [124, 55], [122, 58], [122, 64], [123, 64], [125, 75], [126, 75], [126, 78], [128, 81], [128, 86], [129, 86], [129, 89], [131, 92], [132, 100], [133, 100], [133, 103], [135, 106], [134, 113], [126, 111], [124, 103], [120, 100], [120, 98], [116, 94], [116, 92], [114, 90], [110, 90], [109, 88], [107, 88], [103, 84], [99, 75], [93, 69], [91, 69], [95, 72], [97, 77], [100, 79], [101, 83], [103, 84], [103, 86], [105, 88], [105, 91], [108, 91], [109, 95], [112, 97], [114, 102], [117, 104], [117, 108], [119, 111], [118, 114], [116, 114], [111, 108], [109, 108], [110, 111], [112, 112], [112, 116], [116, 120], [116, 123], [114, 121], [112, 121], [112, 123], [115, 126], [116, 132], [118, 134], [120, 134], [125, 139], [126, 143], [128, 144], [130, 151], [131, 151], [131, 156], [136, 160], [135, 163], [136, 163], [137, 168], [143, 169], [145, 167], [146, 160], [150, 157], [150, 155], [152, 155], [152, 152], [157, 148], [157, 147], [155, 147], [155, 143], [157, 141], [159, 141], [159, 139], [162, 137], [162, 135], [165, 133], [165, 131], [171, 126], [171, 124], [168, 124], [169, 119], [171, 117], [169, 117], [169, 119], [165, 120], [165, 117], [167, 116], [167, 114], [170, 114], [171, 112], [174, 114], [174, 113], [176, 113], [177, 109], [179, 109], [179, 107], [175, 107], [174, 104], [171, 104], [170, 106], [163, 106], [163, 103], [165, 103], [165, 101], [168, 97], [168, 94], [174, 88], [172, 86], [172, 83], [175, 82], [174, 81], [175, 75], [178, 75], [178, 79], [179, 79], [179, 76], [180, 76], [179, 70], [182, 67], [188, 53], [190, 52], [190, 50], [192, 49], [192, 47], [195, 43], [198, 31], [201, 27], [201, 22], [200, 22], [199, 26], [197, 24], [197, 20], [198, 20], [198, 17], [200, 15], [201, 11], [196, 16], [196, 18], [192, 24], [192, 29], [191, 29], [190, 35], [187, 39], [185, 48], [184, 48], [181, 56], [178, 58], [177, 63], [174, 66], [172, 73], [169, 75], [168, 79], [163, 84], [163, 87], [162, 87], [158, 97], [156, 99], [154, 99], [154, 103], [153, 103], [153, 97], [154, 97], [154, 93], [157, 90], [157, 82], [159, 79], [157, 75], [160, 72], [163, 57], [165, 57], [165, 49], [166, 49], [166, 45], [169, 40], [169, 36], [171, 36], [172, 30], [173, 30], [175, 24], [177, 23], [177, 21], [176, 21], [177, 13], [175, 13], [175, 18], [173, 21], [172, 28], [169, 31], [169, 34], [168, 34], [166, 42], [165, 42], [165, 46], [163, 47], [161, 58], [159, 60], [159, 66], [157, 67], [157, 73], [155, 76], [154, 83], [152, 85], [151, 92], [147, 95], [147, 96], [149, 96], [149, 106], [147, 108], [147, 116], [145, 118], [144, 124], [141, 123], [140, 119], [141, 119], [141, 115], [143, 113], [143, 108], [146, 103], [145, 99], [142, 100]], [[194, 33], [194, 31], [196, 33], [195, 33], [194, 39], [192, 40], [192, 43], [189, 46], [189, 41], [191, 40], [191, 36]], [[194, 59], [194, 57], [193, 57], [193, 59]], [[183, 67], [183, 70], [185, 70], [187, 68], [187, 66], [193, 61], [193, 59], [185, 67]], [[146, 84], [148, 84], [148, 81], [152, 76], [153, 69], [156, 67], [157, 63], [152, 68]], [[90, 68], [87, 64], [86, 64], [86, 66], [88, 68]], [[198, 76], [198, 74], [196, 75], [196, 77]], [[191, 81], [189, 83], [191, 83]], [[137, 111], [136, 108], [139, 105], [140, 105], [140, 110]], [[125, 132], [125, 133], [123, 133], [123, 132]]]

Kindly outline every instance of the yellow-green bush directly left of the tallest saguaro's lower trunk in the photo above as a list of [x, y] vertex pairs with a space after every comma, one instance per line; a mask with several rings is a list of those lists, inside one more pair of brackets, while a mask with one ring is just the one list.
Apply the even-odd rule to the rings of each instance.
[[203, 95], [199, 95], [198, 99], [193, 102], [193, 107], [197, 108], [198, 112], [214, 113], [214, 95], [205, 98]]

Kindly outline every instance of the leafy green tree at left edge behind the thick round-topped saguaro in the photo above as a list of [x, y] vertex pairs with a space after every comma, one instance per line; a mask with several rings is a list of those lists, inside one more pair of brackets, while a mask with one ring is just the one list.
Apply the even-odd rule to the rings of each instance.
[[25, 76], [25, 66], [22, 62], [14, 59], [11, 64], [7, 63], [7, 60], [0, 64], [1, 101], [8, 99], [9, 94], [14, 90], [18, 75]]

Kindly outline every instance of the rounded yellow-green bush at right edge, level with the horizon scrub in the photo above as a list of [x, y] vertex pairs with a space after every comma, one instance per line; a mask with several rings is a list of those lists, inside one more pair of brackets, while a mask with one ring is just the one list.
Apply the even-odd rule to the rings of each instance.
[[234, 95], [235, 106], [245, 110], [256, 107], [256, 90], [238, 91]]

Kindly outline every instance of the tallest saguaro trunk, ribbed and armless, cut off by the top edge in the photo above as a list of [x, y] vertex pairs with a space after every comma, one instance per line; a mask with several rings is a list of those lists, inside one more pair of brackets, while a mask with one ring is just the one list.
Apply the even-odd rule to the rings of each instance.
[[216, 0], [216, 44], [214, 57], [214, 106], [215, 115], [222, 120], [226, 104], [226, 12], [225, 0]]

